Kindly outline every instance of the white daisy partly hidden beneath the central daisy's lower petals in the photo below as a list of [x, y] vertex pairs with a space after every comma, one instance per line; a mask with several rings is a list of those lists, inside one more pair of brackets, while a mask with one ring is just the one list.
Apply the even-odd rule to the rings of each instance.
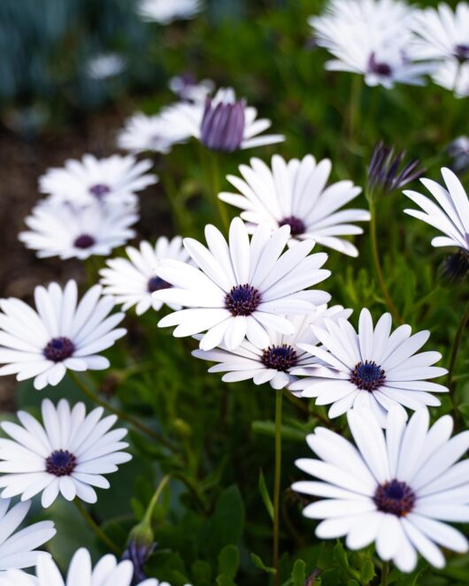
[[194, 350], [192, 355], [202, 360], [218, 362], [209, 369], [209, 372], [225, 372], [226, 374], [221, 377], [224, 383], [252, 378], [254, 384], [270, 383], [273, 389], [283, 389], [297, 380], [297, 377], [290, 374], [292, 369], [318, 362], [317, 358], [297, 346], [302, 342], [319, 342], [311, 330], [311, 325], [323, 323], [325, 317], [334, 321], [340, 317], [348, 319], [351, 312], [351, 309], [344, 309], [341, 305], [334, 305], [331, 308], [323, 305], [305, 316], [287, 316], [288, 321], [295, 326], [295, 333], [284, 335], [268, 331], [269, 345], [263, 349], [244, 340], [233, 351], [229, 351], [221, 344], [213, 350]]

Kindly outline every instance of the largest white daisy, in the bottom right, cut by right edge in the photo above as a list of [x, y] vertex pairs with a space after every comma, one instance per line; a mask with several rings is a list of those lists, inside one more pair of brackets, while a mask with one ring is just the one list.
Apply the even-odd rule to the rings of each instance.
[[305, 517], [324, 520], [316, 528], [319, 539], [345, 537], [350, 550], [375, 542], [381, 559], [392, 559], [401, 572], [414, 569], [417, 553], [443, 567], [437, 545], [467, 552], [466, 538], [442, 521], [469, 521], [469, 468], [467, 460], [457, 462], [469, 448], [469, 431], [450, 438], [449, 415], [428, 429], [426, 408], [407, 425], [392, 409], [386, 434], [369, 409], [347, 416], [357, 447], [316, 428], [307, 442], [319, 460], [296, 460], [318, 479], [292, 488], [323, 498], [304, 509]]

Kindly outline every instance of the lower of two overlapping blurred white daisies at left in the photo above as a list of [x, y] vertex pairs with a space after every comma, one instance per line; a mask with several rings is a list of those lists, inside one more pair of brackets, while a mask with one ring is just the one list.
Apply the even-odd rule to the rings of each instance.
[[111, 254], [111, 250], [134, 238], [139, 215], [135, 206], [117, 203], [91, 203], [75, 206], [68, 202], [45, 200], [25, 219], [30, 231], [20, 232], [19, 240], [36, 251], [38, 258], [58, 256], [62, 260]]

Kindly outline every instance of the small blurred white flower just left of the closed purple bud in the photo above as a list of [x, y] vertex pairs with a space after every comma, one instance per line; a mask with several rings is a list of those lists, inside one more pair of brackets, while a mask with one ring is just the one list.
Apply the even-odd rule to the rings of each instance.
[[188, 141], [191, 136], [186, 113], [175, 103], [159, 114], [147, 116], [137, 112], [127, 118], [118, 134], [118, 146], [133, 153], [154, 151], [169, 153], [173, 145]]

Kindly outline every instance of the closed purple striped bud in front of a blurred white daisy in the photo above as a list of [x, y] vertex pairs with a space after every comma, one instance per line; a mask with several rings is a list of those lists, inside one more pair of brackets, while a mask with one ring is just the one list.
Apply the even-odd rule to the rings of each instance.
[[231, 153], [240, 148], [244, 136], [244, 109], [246, 103], [220, 102], [216, 106], [211, 98], [205, 102], [200, 140], [205, 147]]

